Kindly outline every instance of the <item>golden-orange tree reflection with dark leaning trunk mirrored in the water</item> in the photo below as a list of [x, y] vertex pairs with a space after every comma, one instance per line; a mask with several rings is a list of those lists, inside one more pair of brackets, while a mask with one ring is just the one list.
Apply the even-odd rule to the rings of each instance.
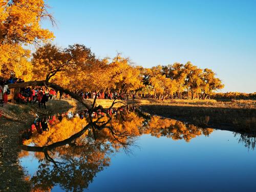
[[[110, 155], [121, 148], [129, 151], [138, 136], [151, 134], [189, 142], [200, 135], [208, 136], [212, 131], [159, 116], [141, 117], [134, 109], [123, 108], [111, 117], [101, 113], [98, 118], [64, 118], [51, 126], [49, 132], [34, 133], [21, 147], [35, 152], [40, 162], [31, 178], [34, 191], [51, 190], [56, 185], [64, 190], [81, 191], [88, 188], [98, 172], [110, 165]], [[20, 157], [26, 155], [20, 153]]]

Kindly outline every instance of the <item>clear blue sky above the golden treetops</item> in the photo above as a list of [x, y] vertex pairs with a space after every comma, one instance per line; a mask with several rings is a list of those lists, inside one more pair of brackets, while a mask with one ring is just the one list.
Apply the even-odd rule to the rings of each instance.
[[152, 67], [191, 61], [226, 91], [256, 92], [256, 1], [47, 0], [61, 47], [79, 43], [100, 58], [118, 52]]

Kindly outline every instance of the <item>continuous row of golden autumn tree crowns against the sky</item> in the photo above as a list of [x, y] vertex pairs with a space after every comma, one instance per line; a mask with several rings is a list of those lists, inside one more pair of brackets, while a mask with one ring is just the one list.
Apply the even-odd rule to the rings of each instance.
[[[191, 62], [143, 68], [130, 58], [98, 58], [81, 44], [60, 48], [54, 35], [40, 25], [54, 19], [43, 0], [1, 0], [0, 71], [2, 78], [15, 75], [29, 80], [45, 80], [70, 91], [101, 91], [150, 94], [154, 98], [209, 97], [224, 85], [210, 69]], [[26, 45], [36, 45], [33, 53]]]

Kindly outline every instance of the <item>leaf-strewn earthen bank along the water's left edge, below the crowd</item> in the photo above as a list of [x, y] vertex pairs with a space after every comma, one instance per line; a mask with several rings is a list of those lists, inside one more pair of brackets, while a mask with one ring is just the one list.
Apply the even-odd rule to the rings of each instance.
[[38, 109], [37, 104], [17, 105], [8, 103], [0, 110], [9, 119], [0, 118], [0, 191], [30, 191], [24, 170], [18, 162], [18, 133], [28, 129], [35, 114], [44, 115], [66, 112], [80, 105], [73, 99], [50, 100], [47, 109]]

